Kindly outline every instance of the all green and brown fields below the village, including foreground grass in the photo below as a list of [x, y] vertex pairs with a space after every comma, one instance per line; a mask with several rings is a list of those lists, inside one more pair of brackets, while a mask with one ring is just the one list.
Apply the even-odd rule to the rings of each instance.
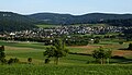
[[[112, 55], [121, 55], [125, 59], [110, 59], [110, 64], [94, 64], [95, 59], [90, 55], [67, 54], [61, 58], [58, 65], [51, 59], [50, 64], [45, 64], [43, 52], [48, 46], [42, 42], [19, 42], [0, 41], [0, 46], [6, 46], [6, 59], [18, 58], [16, 64], [0, 65], [0, 75], [131, 75], [132, 74], [132, 51], [119, 50], [128, 48], [129, 42], [119, 45], [113, 41], [101, 41], [96, 45], [67, 47], [70, 52], [91, 54], [97, 48], [105, 47], [112, 50]], [[32, 64], [26, 63], [28, 58], [32, 58]], [[124, 64], [125, 63], [125, 64]]]

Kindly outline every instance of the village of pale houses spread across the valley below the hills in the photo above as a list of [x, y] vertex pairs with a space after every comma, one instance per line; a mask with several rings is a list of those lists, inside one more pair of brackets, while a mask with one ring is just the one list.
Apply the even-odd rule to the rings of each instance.
[[124, 29], [131, 27], [120, 27], [120, 26], [59, 26], [50, 28], [35, 28], [32, 30], [13, 32], [0, 35], [0, 37], [41, 37], [51, 38], [54, 36], [62, 35], [75, 35], [75, 34], [106, 34], [106, 33], [122, 33]]

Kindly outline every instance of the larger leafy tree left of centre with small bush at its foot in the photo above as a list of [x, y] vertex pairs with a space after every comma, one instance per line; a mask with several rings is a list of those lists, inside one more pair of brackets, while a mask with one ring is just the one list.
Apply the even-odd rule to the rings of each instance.
[[54, 58], [54, 63], [58, 64], [59, 58], [66, 57], [68, 49], [65, 47], [65, 42], [61, 39], [55, 39], [55, 42], [52, 47], [46, 48], [44, 55], [47, 58], [45, 63], [48, 63], [51, 58]]

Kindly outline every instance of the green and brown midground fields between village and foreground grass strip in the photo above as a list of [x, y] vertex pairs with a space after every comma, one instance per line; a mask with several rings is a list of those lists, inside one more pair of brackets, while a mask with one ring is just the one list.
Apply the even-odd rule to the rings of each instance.
[[[22, 62], [26, 62], [28, 58], [33, 59], [33, 63], [43, 63], [44, 57], [43, 52], [45, 51], [45, 48], [47, 46], [44, 46], [40, 42], [12, 42], [12, 41], [0, 41], [0, 46], [6, 46], [6, 54], [7, 59], [10, 58], [18, 58]], [[88, 46], [76, 46], [76, 47], [67, 47], [70, 52], [75, 53], [87, 53], [91, 54], [92, 51], [100, 46], [103, 48], [109, 48], [113, 52], [113, 55], [121, 55], [125, 57], [128, 59], [112, 59], [111, 62], [125, 62], [130, 61], [132, 58], [132, 51], [125, 51], [125, 50], [118, 50], [120, 48], [127, 48], [129, 43], [119, 45], [118, 42], [113, 41], [103, 41], [98, 45], [88, 45]], [[87, 61], [95, 61], [92, 57], [88, 55], [76, 55], [76, 54], [68, 54], [67, 57], [64, 57], [61, 59], [59, 63], [67, 63], [67, 64], [86, 64]]]

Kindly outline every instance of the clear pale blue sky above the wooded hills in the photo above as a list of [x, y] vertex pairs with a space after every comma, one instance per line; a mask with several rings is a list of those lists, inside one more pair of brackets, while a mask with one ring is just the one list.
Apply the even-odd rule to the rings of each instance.
[[132, 0], [0, 0], [0, 11], [20, 14], [131, 13]]

